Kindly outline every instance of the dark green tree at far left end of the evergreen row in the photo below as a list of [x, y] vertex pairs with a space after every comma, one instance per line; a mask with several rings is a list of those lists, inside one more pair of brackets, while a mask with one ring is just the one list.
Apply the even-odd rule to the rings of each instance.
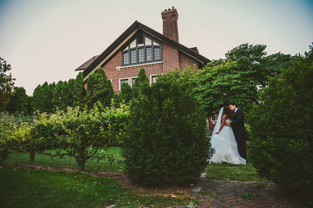
[[27, 99], [28, 96], [23, 87], [14, 87], [13, 97], [10, 99], [5, 109], [9, 113], [23, 113], [27, 114]]

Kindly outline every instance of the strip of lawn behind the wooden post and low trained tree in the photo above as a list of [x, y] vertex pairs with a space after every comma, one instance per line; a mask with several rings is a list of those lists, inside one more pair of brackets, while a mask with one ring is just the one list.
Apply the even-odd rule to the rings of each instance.
[[[47, 152], [54, 152], [53, 150]], [[65, 151], [64, 151], [65, 152]], [[108, 149], [108, 154], [112, 154], [116, 157], [115, 162], [110, 165], [108, 160], [100, 160], [98, 163], [97, 160], [87, 160], [85, 162], [85, 171], [104, 171], [104, 172], [119, 172], [121, 170], [121, 164], [117, 160], [121, 160], [121, 148], [119, 147], [110, 147]], [[9, 159], [5, 160], [5, 163], [9, 164], [22, 164], [29, 165], [29, 153], [22, 152], [21, 154], [9, 154]], [[52, 158], [47, 155], [35, 155], [35, 165], [36, 166], [49, 166], [49, 167], [61, 167], [61, 168], [73, 168], [78, 169], [77, 162], [72, 157], [65, 157], [65, 159], [59, 159], [57, 157]]]

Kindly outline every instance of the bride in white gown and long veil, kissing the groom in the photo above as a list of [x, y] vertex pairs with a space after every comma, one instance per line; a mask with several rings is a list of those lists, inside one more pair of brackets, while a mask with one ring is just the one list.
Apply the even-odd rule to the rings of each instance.
[[[235, 139], [233, 128], [224, 126], [225, 122], [232, 122], [233, 116], [228, 106], [220, 109], [218, 119], [214, 127], [211, 144], [215, 149], [210, 162], [221, 164], [223, 162], [231, 164], [246, 164], [246, 160], [239, 155], [237, 141]], [[219, 126], [219, 123], [221, 124]]]

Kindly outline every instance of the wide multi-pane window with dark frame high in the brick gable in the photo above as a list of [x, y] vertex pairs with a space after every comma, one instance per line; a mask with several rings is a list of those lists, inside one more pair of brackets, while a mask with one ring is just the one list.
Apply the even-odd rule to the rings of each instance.
[[138, 35], [122, 51], [122, 65], [134, 65], [162, 60], [161, 43], [146, 35]]

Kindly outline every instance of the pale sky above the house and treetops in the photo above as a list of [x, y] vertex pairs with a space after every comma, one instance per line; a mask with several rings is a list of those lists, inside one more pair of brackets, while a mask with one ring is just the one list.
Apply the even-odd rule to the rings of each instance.
[[208, 59], [242, 43], [268, 55], [309, 51], [313, 0], [0, 0], [0, 57], [15, 86], [68, 81], [136, 20], [162, 33], [161, 12], [178, 12], [179, 42]]

